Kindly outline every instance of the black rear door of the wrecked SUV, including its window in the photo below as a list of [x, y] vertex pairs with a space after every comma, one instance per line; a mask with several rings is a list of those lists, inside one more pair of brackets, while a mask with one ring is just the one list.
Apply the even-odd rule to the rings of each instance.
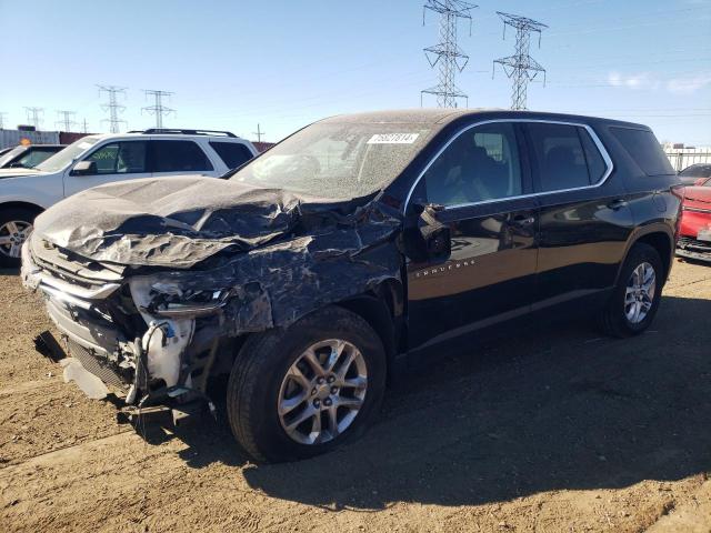
[[602, 295], [634, 225], [624, 187], [590, 127], [539, 121], [525, 130], [541, 207], [533, 306]]

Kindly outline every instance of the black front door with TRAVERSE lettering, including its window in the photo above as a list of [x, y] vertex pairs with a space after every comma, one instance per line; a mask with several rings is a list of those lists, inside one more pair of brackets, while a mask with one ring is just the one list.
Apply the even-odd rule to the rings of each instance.
[[519, 127], [470, 128], [430, 164], [413, 203], [443, 205], [451, 255], [408, 263], [410, 349], [530, 311], [538, 207]]

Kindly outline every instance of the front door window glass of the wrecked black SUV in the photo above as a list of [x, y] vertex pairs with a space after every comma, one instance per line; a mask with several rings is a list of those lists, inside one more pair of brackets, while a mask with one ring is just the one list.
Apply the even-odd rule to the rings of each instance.
[[481, 202], [522, 193], [513, 124], [498, 122], [459, 135], [424, 173], [428, 201], [442, 205]]

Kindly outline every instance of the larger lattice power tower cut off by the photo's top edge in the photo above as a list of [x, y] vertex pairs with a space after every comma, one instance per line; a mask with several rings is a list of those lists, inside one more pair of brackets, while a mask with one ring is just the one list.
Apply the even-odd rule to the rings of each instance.
[[469, 56], [457, 43], [457, 24], [459, 19], [469, 20], [469, 34], [471, 37], [471, 13], [478, 8], [473, 3], [463, 0], [427, 0], [422, 10], [422, 26], [427, 10], [440, 16], [440, 42], [424, 49], [424, 56], [434, 68], [439, 63], [439, 82], [437, 86], [420, 92], [420, 105], [423, 94], [437, 97], [437, 105], [440, 108], [455, 108], [457, 100], [463, 98], [469, 104], [469, 97], [454, 83], [454, 76], [461, 72], [469, 62]]

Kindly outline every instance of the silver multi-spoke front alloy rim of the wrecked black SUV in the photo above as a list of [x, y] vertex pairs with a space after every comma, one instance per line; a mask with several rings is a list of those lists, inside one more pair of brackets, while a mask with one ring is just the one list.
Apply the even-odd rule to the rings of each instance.
[[301, 444], [329, 442], [353, 423], [367, 389], [368, 369], [358, 348], [340, 339], [312, 344], [281, 383], [281, 425]]

